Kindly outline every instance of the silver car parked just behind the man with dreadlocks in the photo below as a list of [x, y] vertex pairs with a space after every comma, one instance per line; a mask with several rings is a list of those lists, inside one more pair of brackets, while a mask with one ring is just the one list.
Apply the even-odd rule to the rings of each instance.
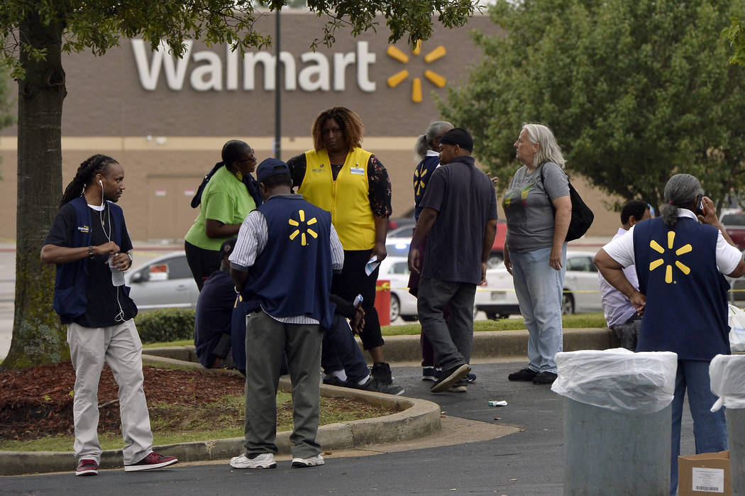
[[124, 284], [140, 311], [195, 308], [199, 289], [186, 263], [186, 253], [171, 252], [127, 271]]

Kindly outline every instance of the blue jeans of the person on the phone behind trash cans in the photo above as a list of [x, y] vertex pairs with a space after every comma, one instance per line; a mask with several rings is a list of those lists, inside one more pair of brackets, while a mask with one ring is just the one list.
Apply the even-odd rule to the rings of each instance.
[[688, 389], [688, 407], [694, 419], [696, 454], [725, 451], [727, 449], [727, 421], [724, 410], [711, 413], [717, 397], [711, 393], [706, 360], [678, 360], [673, 397], [673, 429], [670, 463], [670, 494], [678, 489], [678, 456], [680, 454], [680, 420], [683, 416], [683, 399]]

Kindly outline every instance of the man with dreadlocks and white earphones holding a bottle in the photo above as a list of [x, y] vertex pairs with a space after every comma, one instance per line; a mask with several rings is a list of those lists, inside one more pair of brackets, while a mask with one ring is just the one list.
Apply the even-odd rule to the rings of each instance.
[[132, 266], [132, 241], [115, 203], [124, 192], [124, 169], [110, 156], [80, 164], [44, 241], [44, 264], [57, 265], [54, 310], [67, 325], [75, 368], [75, 475], [98, 474], [98, 380], [104, 360], [119, 385], [124, 471], [178, 462], [153, 451], [150, 414], [142, 390], [142, 343], [133, 317], [137, 308], [124, 286]]

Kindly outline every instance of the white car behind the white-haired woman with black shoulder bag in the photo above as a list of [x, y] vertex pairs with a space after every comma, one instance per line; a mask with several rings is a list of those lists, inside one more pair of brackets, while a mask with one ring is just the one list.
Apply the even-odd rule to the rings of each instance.
[[[603, 300], [597, 283], [597, 267], [592, 262], [593, 252], [567, 252], [562, 314], [594, 313], [603, 311]], [[486, 270], [486, 284], [476, 288], [475, 307], [489, 319], [519, 314], [513, 278], [504, 264]]]

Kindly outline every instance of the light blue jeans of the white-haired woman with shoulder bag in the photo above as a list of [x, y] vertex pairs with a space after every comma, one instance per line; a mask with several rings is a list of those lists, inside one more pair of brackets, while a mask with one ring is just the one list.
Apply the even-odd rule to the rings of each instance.
[[527, 340], [528, 368], [533, 372], [557, 373], [554, 356], [562, 351], [561, 296], [566, 272], [566, 243], [562, 268], [548, 264], [551, 248], [532, 252], [510, 252], [513, 284], [530, 338]]

